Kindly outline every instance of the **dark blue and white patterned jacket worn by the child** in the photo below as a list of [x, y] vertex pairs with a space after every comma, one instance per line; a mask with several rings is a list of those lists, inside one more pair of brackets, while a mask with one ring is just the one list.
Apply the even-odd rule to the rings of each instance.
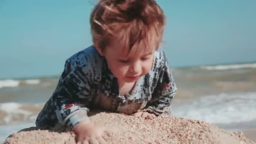
[[165, 53], [155, 51], [149, 73], [137, 80], [131, 93], [121, 96], [106, 59], [91, 46], [67, 59], [56, 90], [37, 116], [36, 126], [44, 129], [59, 123], [74, 128], [93, 108], [125, 114], [171, 114], [176, 90]]

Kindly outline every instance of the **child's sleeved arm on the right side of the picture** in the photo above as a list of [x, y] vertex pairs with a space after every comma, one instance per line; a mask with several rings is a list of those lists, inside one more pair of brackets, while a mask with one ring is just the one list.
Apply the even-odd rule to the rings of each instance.
[[168, 61], [163, 54], [163, 67], [160, 70], [159, 79], [155, 91], [152, 93], [152, 101], [147, 109], [149, 113], [155, 115], [171, 114], [171, 102], [177, 91], [176, 84], [173, 80], [171, 69], [168, 66]]

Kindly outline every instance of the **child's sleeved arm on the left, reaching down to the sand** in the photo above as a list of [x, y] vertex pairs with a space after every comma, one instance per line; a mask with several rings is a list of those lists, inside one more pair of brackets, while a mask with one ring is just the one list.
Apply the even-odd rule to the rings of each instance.
[[88, 118], [87, 112], [91, 96], [93, 69], [88, 59], [80, 66], [81, 59], [68, 59], [61, 75], [52, 101], [56, 116], [62, 125], [74, 128], [80, 121]]

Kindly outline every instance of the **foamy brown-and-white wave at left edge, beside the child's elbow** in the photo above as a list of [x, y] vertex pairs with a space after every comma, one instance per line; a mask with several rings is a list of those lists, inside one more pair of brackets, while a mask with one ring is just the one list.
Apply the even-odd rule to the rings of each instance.
[[0, 103], [0, 125], [17, 121], [35, 121], [42, 104]]

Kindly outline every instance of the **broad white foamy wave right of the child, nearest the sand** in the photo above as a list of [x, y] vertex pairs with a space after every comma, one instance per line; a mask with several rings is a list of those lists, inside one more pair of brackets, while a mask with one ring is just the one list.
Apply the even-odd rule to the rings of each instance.
[[173, 115], [208, 123], [238, 123], [256, 119], [256, 92], [221, 93], [180, 101]]

